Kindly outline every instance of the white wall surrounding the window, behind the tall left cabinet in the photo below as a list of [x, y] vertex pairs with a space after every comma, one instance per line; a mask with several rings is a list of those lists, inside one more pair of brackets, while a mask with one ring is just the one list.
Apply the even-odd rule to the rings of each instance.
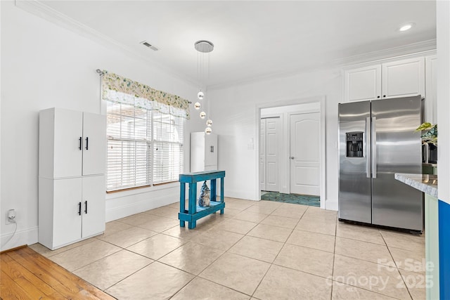
[[[12, 225], [4, 225], [8, 209], [16, 209], [18, 222], [18, 233], [2, 247], [9, 249], [37, 242], [39, 110], [63, 107], [101, 112], [97, 68], [190, 100], [197, 91], [146, 61], [27, 13], [13, 1], [1, 1], [0, 5], [2, 245], [13, 231]], [[191, 129], [203, 130], [199, 118], [186, 122], [185, 171], [189, 168]], [[176, 184], [108, 195], [107, 219], [177, 202], [178, 197]]]

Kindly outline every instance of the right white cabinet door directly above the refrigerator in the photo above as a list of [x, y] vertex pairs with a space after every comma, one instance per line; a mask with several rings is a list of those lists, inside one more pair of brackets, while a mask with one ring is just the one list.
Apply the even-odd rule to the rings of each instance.
[[425, 60], [411, 58], [381, 65], [383, 98], [425, 97]]

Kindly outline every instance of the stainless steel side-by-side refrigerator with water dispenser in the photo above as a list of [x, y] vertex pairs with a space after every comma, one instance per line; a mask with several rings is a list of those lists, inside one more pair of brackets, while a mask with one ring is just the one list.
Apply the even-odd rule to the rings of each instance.
[[339, 104], [339, 219], [423, 230], [423, 196], [394, 179], [422, 174], [420, 96]]

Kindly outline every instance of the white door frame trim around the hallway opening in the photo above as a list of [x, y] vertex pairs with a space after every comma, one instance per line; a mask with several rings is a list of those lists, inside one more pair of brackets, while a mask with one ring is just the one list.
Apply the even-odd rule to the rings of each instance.
[[[294, 106], [295, 105], [295, 106]], [[318, 108], [314, 108], [311, 110], [311, 107], [314, 106]], [[255, 184], [255, 195], [257, 195], [257, 200], [261, 200], [261, 190], [259, 189], [259, 136], [261, 134], [260, 132], [260, 120], [261, 120], [261, 110], [264, 108], [275, 108], [279, 107], [281, 110], [283, 108], [287, 108], [288, 106], [295, 107], [295, 111], [289, 112], [287, 115], [290, 117], [290, 115], [297, 115], [307, 112], [319, 112], [320, 113], [320, 123], [321, 123], [321, 138], [320, 138], [320, 144], [321, 144], [321, 164], [320, 164], [320, 197], [321, 197], [321, 208], [326, 209], [326, 96], [314, 96], [309, 98], [297, 98], [297, 99], [291, 99], [291, 100], [275, 100], [271, 101], [270, 103], [262, 103], [259, 105], [256, 105], [256, 155], [255, 155], [255, 162], [256, 162], [256, 169], [255, 169], [255, 176], [257, 178], [256, 184]], [[288, 118], [286, 118], [288, 119]], [[285, 123], [286, 121], [284, 121]], [[289, 119], [288, 119], [289, 122]], [[283, 137], [290, 136], [290, 129], [284, 128], [283, 126]], [[289, 140], [286, 140], [289, 142]], [[289, 148], [290, 145], [288, 145]], [[289, 151], [289, 150], [288, 150]], [[285, 152], [280, 154], [280, 161], [283, 160], [283, 155], [286, 155]], [[289, 153], [288, 153], [289, 155]], [[288, 159], [289, 156], [286, 156]], [[288, 175], [289, 177], [290, 175]], [[289, 178], [290, 180], [290, 178]], [[281, 183], [280, 183], [281, 184]], [[282, 190], [280, 186], [280, 190]], [[288, 186], [288, 189], [285, 190], [288, 193], [290, 192], [290, 186]]]

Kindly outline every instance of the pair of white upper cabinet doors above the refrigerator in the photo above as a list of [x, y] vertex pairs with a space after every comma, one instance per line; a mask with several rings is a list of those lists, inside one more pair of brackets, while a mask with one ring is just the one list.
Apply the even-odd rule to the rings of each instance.
[[345, 70], [344, 102], [425, 96], [425, 58]]

